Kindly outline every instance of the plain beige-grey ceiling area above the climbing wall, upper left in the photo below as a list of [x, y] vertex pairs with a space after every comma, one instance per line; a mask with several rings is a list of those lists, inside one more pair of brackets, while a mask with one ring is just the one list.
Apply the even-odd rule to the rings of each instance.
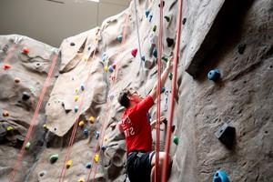
[[20, 34], [58, 47], [68, 36], [101, 25], [130, 0], [0, 0], [0, 35]]

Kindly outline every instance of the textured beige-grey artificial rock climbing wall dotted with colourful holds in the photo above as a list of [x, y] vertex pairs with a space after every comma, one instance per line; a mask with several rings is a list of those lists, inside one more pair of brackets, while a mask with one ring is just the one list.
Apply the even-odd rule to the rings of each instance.
[[[124, 181], [126, 145], [118, 129], [124, 108], [116, 97], [126, 86], [136, 87], [146, 96], [157, 81], [159, 0], [136, 2], [137, 18], [132, 1], [126, 11], [107, 18], [100, 27], [63, 41], [59, 76], [50, 97], [45, 98], [46, 121], [41, 113], [37, 126], [41, 134], [32, 136], [45, 144], [26, 152], [23, 169], [28, 175], [20, 173], [18, 181]], [[176, 45], [177, 1], [165, 1], [163, 9], [160, 60], [164, 68]], [[224, 171], [230, 181], [273, 181], [272, 1], [185, 0], [182, 19], [169, 181], [212, 181], [217, 170]], [[7, 43], [4, 36], [1, 44]], [[5, 52], [2, 55], [6, 56]], [[1, 92], [6, 93], [1, 96], [1, 109], [9, 110], [1, 125], [24, 126], [27, 121], [18, 121], [27, 120], [24, 116], [30, 119], [34, 108], [25, 113], [15, 109], [15, 96], [22, 92], [11, 94], [16, 89], [10, 77], [12, 68], [0, 75], [5, 77], [1, 89], [8, 91]], [[15, 73], [23, 75], [25, 69]], [[35, 69], [30, 73], [29, 78], [45, 79], [35, 75]], [[171, 77], [162, 90], [162, 116], [169, 113]], [[29, 79], [27, 86], [33, 80]], [[150, 116], [155, 119], [156, 105]], [[41, 126], [44, 121], [46, 133]], [[7, 180], [15, 162], [9, 159], [18, 151], [5, 127], [1, 133], [1, 181]], [[7, 150], [14, 153], [7, 155]], [[224, 173], [218, 174], [223, 177]]]

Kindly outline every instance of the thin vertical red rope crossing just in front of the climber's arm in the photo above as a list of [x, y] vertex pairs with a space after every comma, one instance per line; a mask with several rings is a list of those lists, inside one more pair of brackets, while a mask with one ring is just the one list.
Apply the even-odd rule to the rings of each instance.
[[161, 56], [162, 56], [162, 36], [163, 36], [163, 0], [160, 0], [160, 21], [158, 35], [158, 56], [157, 56], [157, 140], [156, 140], [156, 166], [155, 181], [159, 178], [159, 143], [160, 143], [160, 95], [161, 95]]

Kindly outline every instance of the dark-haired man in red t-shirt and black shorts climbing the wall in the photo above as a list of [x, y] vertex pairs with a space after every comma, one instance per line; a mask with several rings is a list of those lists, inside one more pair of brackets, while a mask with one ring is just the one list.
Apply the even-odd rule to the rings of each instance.
[[[171, 69], [172, 57], [168, 59], [167, 67], [161, 75], [161, 86], [165, 85]], [[133, 88], [124, 89], [118, 96], [119, 104], [126, 107], [119, 129], [126, 136], [127, 175], [131, 182], [148, 182], [155, 177], [156, 156], [155, 151], [152, 151], [151, 126], [148, 122], [147, 112], [155, 104], [156, 98], [157, 83], [146, 98], [139, 96]], [[162, 123], [164, 119], [160, 120]], [[152, 122], [152, 125], [154, 124]], [[159, 152], [157, 170], [159, 174], [161, 174], [165, 157], [167, 157], [165, 152]]]

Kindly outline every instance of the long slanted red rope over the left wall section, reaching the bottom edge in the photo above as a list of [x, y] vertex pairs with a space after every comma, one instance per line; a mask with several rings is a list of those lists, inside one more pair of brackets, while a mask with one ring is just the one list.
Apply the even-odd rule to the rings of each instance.
[[42, 102], [44, 100], [44, 96], [45, 96], [45, 92], [46, 92], [46, 89], [47, 89], [47, 86], [49, 86], [49, 83], [50, 83], [50, 79], [51, 79], [51, 76], [53, 74], [53, 71], [54, 71], [54, 68], [56, 66], [56, 60], [57, 60], [57, 57], [58, 57], [58, 53], [56, 53], [56, 55], [54, 56], [53, 58], [53, 62], [51, 64], [51, 67], [49, 69], [49, 72], [48, 72], [48, 75], [46, 77], [46, 80], [45, 80], [45, 84], [43, 86], [43, 89], [42, 89], [42, 92], [39, 96], [39, 101], [38, 101], [38, 104], [35, 108], [35, 114], [34, 116], [32, 117], [32, 120], [30, 122], [30, 126], [28, 127], [28, 130], [27, 130], [27, 133], [26, 133], [26, 136], [25, 136], [25, 142], [23, 144], [23, 147], [21, 147], [21, 150], [17, 156], [17, 159], [15, 161], [15, 167], [13, 168], [11, 174], [10, 174], [10, 177], [9, 177], [9, 181], [10, 182], [13, 182], [15, 181], [15, 174], [17, 172], [17, 170], [19, 170], [19, 167], [21, 165], [21, 162], [22, 162], [22, 159], [24, 157], [24, 154], [25, 154], [25, 145], [27, 144], [27, 142], [29, 141], [29, 137], [31, 136], [31, 133], [32, 133], [32, 129], [33, 129], [33, 126], [35, 125], [35, 122], [36, 122], [36, 119], [37, 119], [37, 116], [39, 114], [39, 110], [42, 106]]

